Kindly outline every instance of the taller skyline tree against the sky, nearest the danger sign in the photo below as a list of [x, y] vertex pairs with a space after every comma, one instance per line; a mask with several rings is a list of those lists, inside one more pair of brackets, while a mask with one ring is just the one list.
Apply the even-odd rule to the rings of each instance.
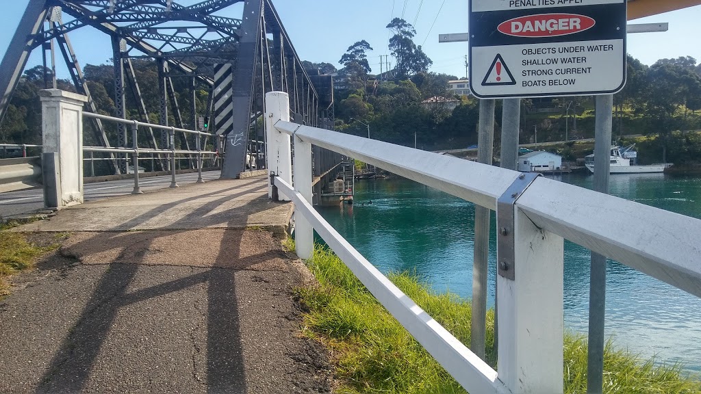
[[421, 46], [416, 46], [414, 43], [416, 29], [401, 18], [394, 18], [387, 28], [394, 33], [390, 39], [389, 48], [397, 60], [394, 70], [395, 79], [401, 81], [418, 72], [427, 72], [433, 61], [423, 53]]

